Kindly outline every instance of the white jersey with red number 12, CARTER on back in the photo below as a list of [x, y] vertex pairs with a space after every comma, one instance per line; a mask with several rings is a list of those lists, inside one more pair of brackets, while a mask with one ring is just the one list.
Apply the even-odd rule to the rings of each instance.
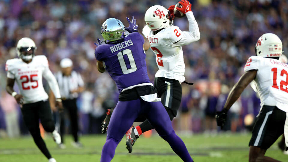
[[261, 100], [261, 107], [277, 106], [288, 112], [288, 65], [273, 58], [251, 56], [244, 71], [257, 70], [254, 85]]

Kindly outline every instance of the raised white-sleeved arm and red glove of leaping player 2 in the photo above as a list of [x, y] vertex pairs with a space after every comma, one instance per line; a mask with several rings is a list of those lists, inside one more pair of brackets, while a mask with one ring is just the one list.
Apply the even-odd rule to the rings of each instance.
[[176, 42], [175, 45], [183, 46], [187, 44], [191, 44], [192, 42], [198, 41], [200, 39], [200, 31], [198, 27], [198, 23], [193, 15], [191, 10], [191, 4], [189, 1], [179, 1], [182, 4], [182, 8], [177, 7], [177, 10], [186, 14], [188, 22], [189, 22], [189, 32], [182, 32], [182, 38], [180, 41]]

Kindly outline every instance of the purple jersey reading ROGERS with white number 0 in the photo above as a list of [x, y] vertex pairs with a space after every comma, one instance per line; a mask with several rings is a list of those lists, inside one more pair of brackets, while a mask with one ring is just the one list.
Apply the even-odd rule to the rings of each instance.
[[119, 92], [132, 85], [150, 82], [143, 44], [142, 35], [133, 32], [122, 42], [103, 44], [95, 49], [96, 59], [105, 63], [105, 69], [116, 82]]

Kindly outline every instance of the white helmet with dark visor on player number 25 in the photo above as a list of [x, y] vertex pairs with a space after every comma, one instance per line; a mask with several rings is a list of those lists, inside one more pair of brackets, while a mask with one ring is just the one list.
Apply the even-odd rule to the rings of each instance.
[[[31, 60], [33, 58], [34, 54], [34, 50], [37, 49], [34, 41], [31, 38], [28, 37], [24, 37], [21, 38], [16, 46], [16, 51], [17, 51], [17, 55], [19, 58], [22, 58], [23, 60]], [[30, 51], [31, 50], [31, 55], [23, 55], [21, 52], [23, 51]]]

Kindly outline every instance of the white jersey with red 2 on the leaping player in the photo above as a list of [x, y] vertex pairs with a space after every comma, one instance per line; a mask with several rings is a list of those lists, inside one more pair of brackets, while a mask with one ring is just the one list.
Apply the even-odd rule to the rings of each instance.
[[186, 15], [189, 21], [189, 32], [182, 32], [178, 26], [170, 26], [154, 35], [147, 25], [144, 26], [143, 35], [150, 42], [159, 68], [155, 77], [184, 82], [185, 64], [182, 45], [190, 44], [200, 38], [198, 24], [193, 13], [190, 11]]

